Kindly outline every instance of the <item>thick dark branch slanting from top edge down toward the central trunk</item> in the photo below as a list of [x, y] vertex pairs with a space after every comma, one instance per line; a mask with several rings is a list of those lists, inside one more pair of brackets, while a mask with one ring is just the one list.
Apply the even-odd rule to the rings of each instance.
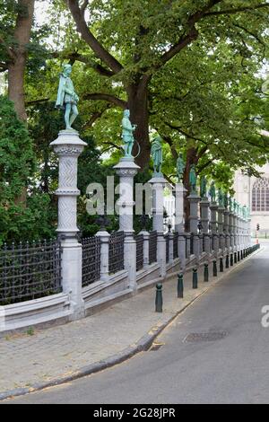
[[91, 47], [92, 51], [97, 57], [106, 63], [106, 65], [113, 71], [114, 74], [119, 73], [123, 66], [113, 57], [106, 48], [97, 40], [88, 28], [85, 22], [82, 9], [80, 9], [78, 0], [66, 0], [70, 12], [73, 15], [74, 22], [77, 26], [77, 31], [82, 34], [82, 39]]

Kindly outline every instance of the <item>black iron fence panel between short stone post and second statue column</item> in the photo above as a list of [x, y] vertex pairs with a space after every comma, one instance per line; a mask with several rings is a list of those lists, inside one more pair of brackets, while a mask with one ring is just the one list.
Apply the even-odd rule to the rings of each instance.
[[109, 239], [109, 274], [117, 273], [125, 268], [125, 233], [111, 233]]

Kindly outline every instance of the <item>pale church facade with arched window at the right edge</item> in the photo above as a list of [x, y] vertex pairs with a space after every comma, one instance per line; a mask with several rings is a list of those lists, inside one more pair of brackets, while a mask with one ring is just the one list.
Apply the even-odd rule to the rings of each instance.
[[259, 237], [269, 238], [269, 163], [258, 167], [261, 178], [249, 177], [242, 171], [236, 171], [234, 180], [235, 198], [241, 205], [250, 209], [251, 233], [256, 236], [259, 225]]

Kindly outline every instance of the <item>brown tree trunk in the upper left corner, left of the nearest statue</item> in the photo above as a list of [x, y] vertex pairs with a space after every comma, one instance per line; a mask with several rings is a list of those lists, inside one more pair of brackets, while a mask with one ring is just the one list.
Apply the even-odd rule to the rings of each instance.
[[19, 12], [13, 34], [17, 46], [13, 49], [13, 60], [8, 66], [8, 97], [13, 101], [19, 119], [24, 121], [27, 119], [24, 100], [24, 72], [34, 3], [35, 0], [19, 0], [18, 2]]

